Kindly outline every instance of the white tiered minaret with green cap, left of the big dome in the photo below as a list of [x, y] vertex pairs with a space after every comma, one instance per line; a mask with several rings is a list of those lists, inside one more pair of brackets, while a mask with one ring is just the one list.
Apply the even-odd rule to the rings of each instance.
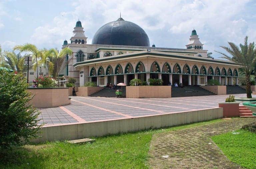
[[87, 44], [87, 37], [84, 35], [84, 28], [81, 21], [76, 22], [76, 27], [73, 31], [74, 35], [70, 38], [72, 44]]

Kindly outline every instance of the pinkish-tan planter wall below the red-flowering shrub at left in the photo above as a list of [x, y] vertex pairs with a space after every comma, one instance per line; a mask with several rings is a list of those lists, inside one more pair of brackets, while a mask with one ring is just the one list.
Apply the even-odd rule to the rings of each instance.
[[29, 88], [35, 96], [30, 103], [37, 108], [55, 107], [59, 105], [66, 105], [70, 103], [68, 98], [69, 88]]

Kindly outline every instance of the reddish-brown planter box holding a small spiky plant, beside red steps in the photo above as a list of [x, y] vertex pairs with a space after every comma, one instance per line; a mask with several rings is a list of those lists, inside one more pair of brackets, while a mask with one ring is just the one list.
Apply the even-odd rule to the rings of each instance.
[[223, 117], [239, 116], [239, 103], [238, 102], [219, 103], [219, 107], [223, 107]]

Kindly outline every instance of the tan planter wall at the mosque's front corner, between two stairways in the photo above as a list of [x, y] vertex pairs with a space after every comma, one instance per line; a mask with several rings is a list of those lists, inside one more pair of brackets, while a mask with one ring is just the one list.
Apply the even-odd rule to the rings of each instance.
[[172, 86], [126, 86], [127, 98], [166, 98], [172, 96]]

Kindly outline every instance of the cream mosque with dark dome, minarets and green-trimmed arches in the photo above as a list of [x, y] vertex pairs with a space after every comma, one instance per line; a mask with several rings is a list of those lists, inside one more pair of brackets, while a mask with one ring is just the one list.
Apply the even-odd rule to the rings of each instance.
[[238, 85], [238, 68], [233, 62], [207, 58], [196, 30], [193, 30], [184, 49], [150, 46], [146, 32], [123, 18], [103, 25], [95, 33], [92, 44], [87, 44], [81, 21], [76, 22], [70, 48], [60, 74], [67, 80], [76, 78], [76, 85], [90, 81], [98, 86], [118, 82], [129, 85], [136, 78], [162, 79], [163, 85], [206, 85], [215, 79], [222, 85]]

